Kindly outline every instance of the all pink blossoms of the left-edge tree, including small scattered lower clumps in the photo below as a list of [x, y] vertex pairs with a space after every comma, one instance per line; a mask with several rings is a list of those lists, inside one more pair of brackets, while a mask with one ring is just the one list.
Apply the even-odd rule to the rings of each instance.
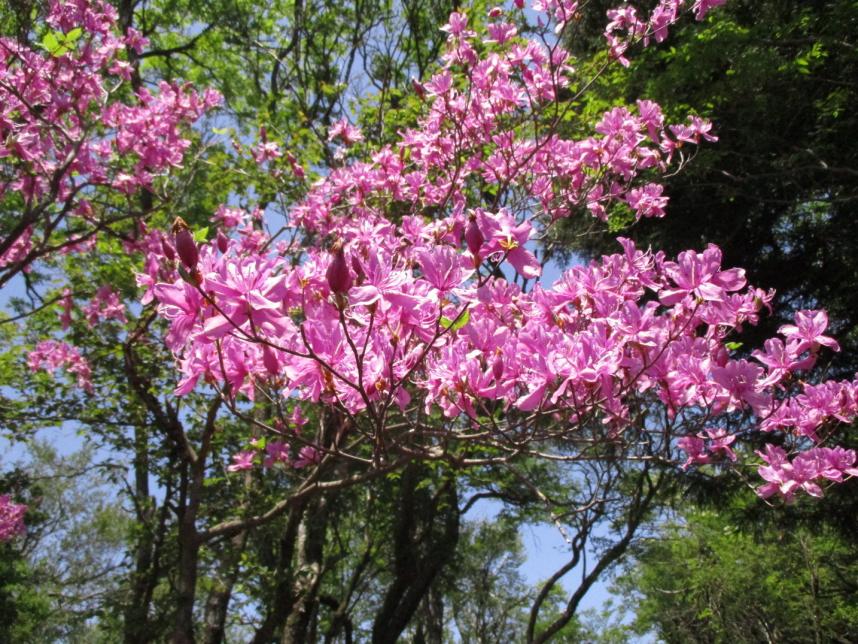
[[[139, 53], [146, 39], [134, 29], [118, 35], [116, 19], [106, 3], [53, 2], [38, 48], [0, 38], [0, 287], [38, 260], [90, 252], [99, 236], [128, 240], [145, 229], [147, 212], [123, 201], [142, 190], [152, 207], [190, 145], [181, 126], [220, 100], [167, 83], [157, 93], [139, 83], [130, 92], [133, 67], [122, 54]], [[57, 301], [67, 329], [72, 290], [42, 307]], [[103, 285], [86, 316], [90, 324], [124, 322], [123, 311]], [[50, 372], [64, 367], [92, 391], [86, 358], [66, 342], [41, 342], [28, 363]], [[5, 540], [23, 531], [24, 506], [6, 495], [0, 506]]]

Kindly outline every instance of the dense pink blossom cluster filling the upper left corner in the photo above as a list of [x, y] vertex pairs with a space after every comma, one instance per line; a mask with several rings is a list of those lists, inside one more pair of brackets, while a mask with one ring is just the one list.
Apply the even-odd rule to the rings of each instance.
[[0, 267], [73, 249], [60, 220], [96, 219], [96, 189], [151, 188], [181, 164], [190, 145], [182, 128], [220, 102], [216, 92], [168, 83], [120, 100], [132, 78], [123, 53], [140, 53], [146, 39], [133, 29], [116, 34], [116, 21], [102, 0], [52, 0], [39, 48], [0, 38], [0, 199], [24, 204], [19, 225], [2, 231]]

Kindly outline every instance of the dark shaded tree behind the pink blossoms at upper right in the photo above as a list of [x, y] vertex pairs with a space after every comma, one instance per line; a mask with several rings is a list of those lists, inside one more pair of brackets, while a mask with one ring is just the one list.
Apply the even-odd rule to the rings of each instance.
[[[568, 41], [584, 57], [600, 49], [597, 17], [610, 5], [596, 4]], [[610, 67], [581, 108], [598, 113], [644, 97], [670, 115], [712, 119], [718, 143], [695, 150], [665, 181], [669, 216], [626, 228], [629, 213], [617, 209], [613, 230], [666, 252], [723, 245], [725, 261], [778, 293], [776, 315], [751, 337], [795, 310], [826, 308], [843, 373], [855, 371], [858, 355], [858, 302], [847, 287], [858, 256], [858, 157], [843, 143], [858, 131], [846, 107], [856, 98], [856, 8], [851, 0], [730, 2], [700, 28], [678, 25], [665, 46], [640, 51], [630, 68]], [[602, 61], [596, 55], [588, 64]], [[564, 222], [558, 251], [611, 248], [615, 233], [580, 223]]]

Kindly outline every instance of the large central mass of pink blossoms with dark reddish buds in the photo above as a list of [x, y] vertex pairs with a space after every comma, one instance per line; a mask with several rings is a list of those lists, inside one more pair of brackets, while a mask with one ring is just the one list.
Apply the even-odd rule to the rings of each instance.
[[[635, 113], [607, 112], [591, 137], [564, 139], [540, 118], [572, 73], [566, 53], [498, 24], [478, 42], [453, 14], [446, 66], [416, 89], [427, 103], [418, 126], [370, 161], [332, 170], [293, 209], [296, 232], [327, 246], [296, 255], [247, 227], [197, 247], [181, 226], [178, 258], [149, 245], [140, 282], [170, 322], [176, 394], [207, 383], [228, 398], [264, 389], [321, 403], [376, 449], [395, 440], [387, 423], [405, 419], [435, 441], [432, 454], [450, 440], [516, 454], [643, 432], [667, 436], [662, 449], [685, 451], [686, 467], [738, 459], [737, 436], [713, 425], [745, 414], [790, 442], [802, 481], [854, 475], [854, 453], [825, 451], [819, 429], [855, 417], [858, 384], [794, 377], [837, 348], [825, 314], [800, 312], [754, 361], [732, 357], [731, 338], [773, 294], [723, 267], [717, 247], [671, 259], [621, 239], [620, 252], [538, 283], [536, 238], [558, 218], [605, 217], [617, 202], [662, 216], [661, 187], [641, 173], [713, 137], [695, 118], [666, 126], [641, 101]], [[361, 134], [341, 122], [331, 137], [348, 145]], [[436, 411], [447, 420], [431, 429], [415, 420]], [[284, 441], [279, 433], [263, 463], [298, 452]], [[326, 453], [301, 449], [307, 462]], [[259, 460], [247, 450], [230, 469]], [[829, 466], [810, 476], [806, 461]], [[784, 463], [770, 464], [771, 475], [785, 476]], [[793, 487], [776, 491], [789, 497]]]

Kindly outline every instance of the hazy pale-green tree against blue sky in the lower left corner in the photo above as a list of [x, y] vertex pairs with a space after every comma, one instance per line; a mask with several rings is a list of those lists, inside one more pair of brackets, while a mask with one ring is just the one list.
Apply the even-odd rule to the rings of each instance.
[[6, 476], [3, 487], [29, 511], [26, 538], [2, 544], [4, 642], [110, 641], [115, 632], [130, 526], [119, 468], [94, 452], [59, 456], [36, 441]]

